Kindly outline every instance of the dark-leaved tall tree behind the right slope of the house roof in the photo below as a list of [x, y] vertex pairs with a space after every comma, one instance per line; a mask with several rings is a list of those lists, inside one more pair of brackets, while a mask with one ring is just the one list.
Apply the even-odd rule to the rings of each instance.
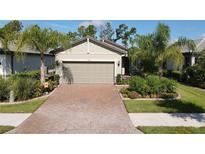
[[129, 40], [136, 34], [136, 28], [128, 28], [126, 24], [121, 24], [116, 29], [116, 38], [114, 41], [121, 40], [125, 47], [128, 47]]

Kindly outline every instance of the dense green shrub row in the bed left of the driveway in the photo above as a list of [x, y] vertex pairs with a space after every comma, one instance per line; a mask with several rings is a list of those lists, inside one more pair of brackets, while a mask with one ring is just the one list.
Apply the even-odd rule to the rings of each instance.
[[36, 71], [17, 73], [7, 79], [0, 77], [0, 100], [8, 100], [10, 91], [14, 92], [15, 100], [26, 100], [42, 96], [52, 91], [59, 84], [59, 76], [52, 74], [46, 78], [46, 83], [40, 83], [40, 75]]

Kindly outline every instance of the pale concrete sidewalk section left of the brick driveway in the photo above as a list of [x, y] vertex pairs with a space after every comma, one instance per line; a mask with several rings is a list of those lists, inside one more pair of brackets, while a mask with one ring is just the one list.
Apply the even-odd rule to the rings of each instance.
[[17, 127], [30, 115], [31, 113], [0, 113], [0, 126]]

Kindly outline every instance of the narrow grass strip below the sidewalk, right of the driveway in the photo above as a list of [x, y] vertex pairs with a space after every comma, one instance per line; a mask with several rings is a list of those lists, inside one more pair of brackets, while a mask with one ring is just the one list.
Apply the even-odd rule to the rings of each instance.
[[145, 134], [205, 134], [205, 127], [139, 126]]

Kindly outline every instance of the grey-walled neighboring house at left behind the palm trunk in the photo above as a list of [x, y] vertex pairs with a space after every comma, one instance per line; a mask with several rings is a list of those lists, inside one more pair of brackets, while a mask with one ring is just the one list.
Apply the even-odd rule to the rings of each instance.
[[[40, 69], [40, 54], [37, 51], [27, 50], [22, 59], [15, 56], [15, 51], [3, 51], [0, 45], [0, 75], [8, 76], [17, 72]], [[55, 64], [53, 54], [45, 54], [45, 64], [50, 67]]]

